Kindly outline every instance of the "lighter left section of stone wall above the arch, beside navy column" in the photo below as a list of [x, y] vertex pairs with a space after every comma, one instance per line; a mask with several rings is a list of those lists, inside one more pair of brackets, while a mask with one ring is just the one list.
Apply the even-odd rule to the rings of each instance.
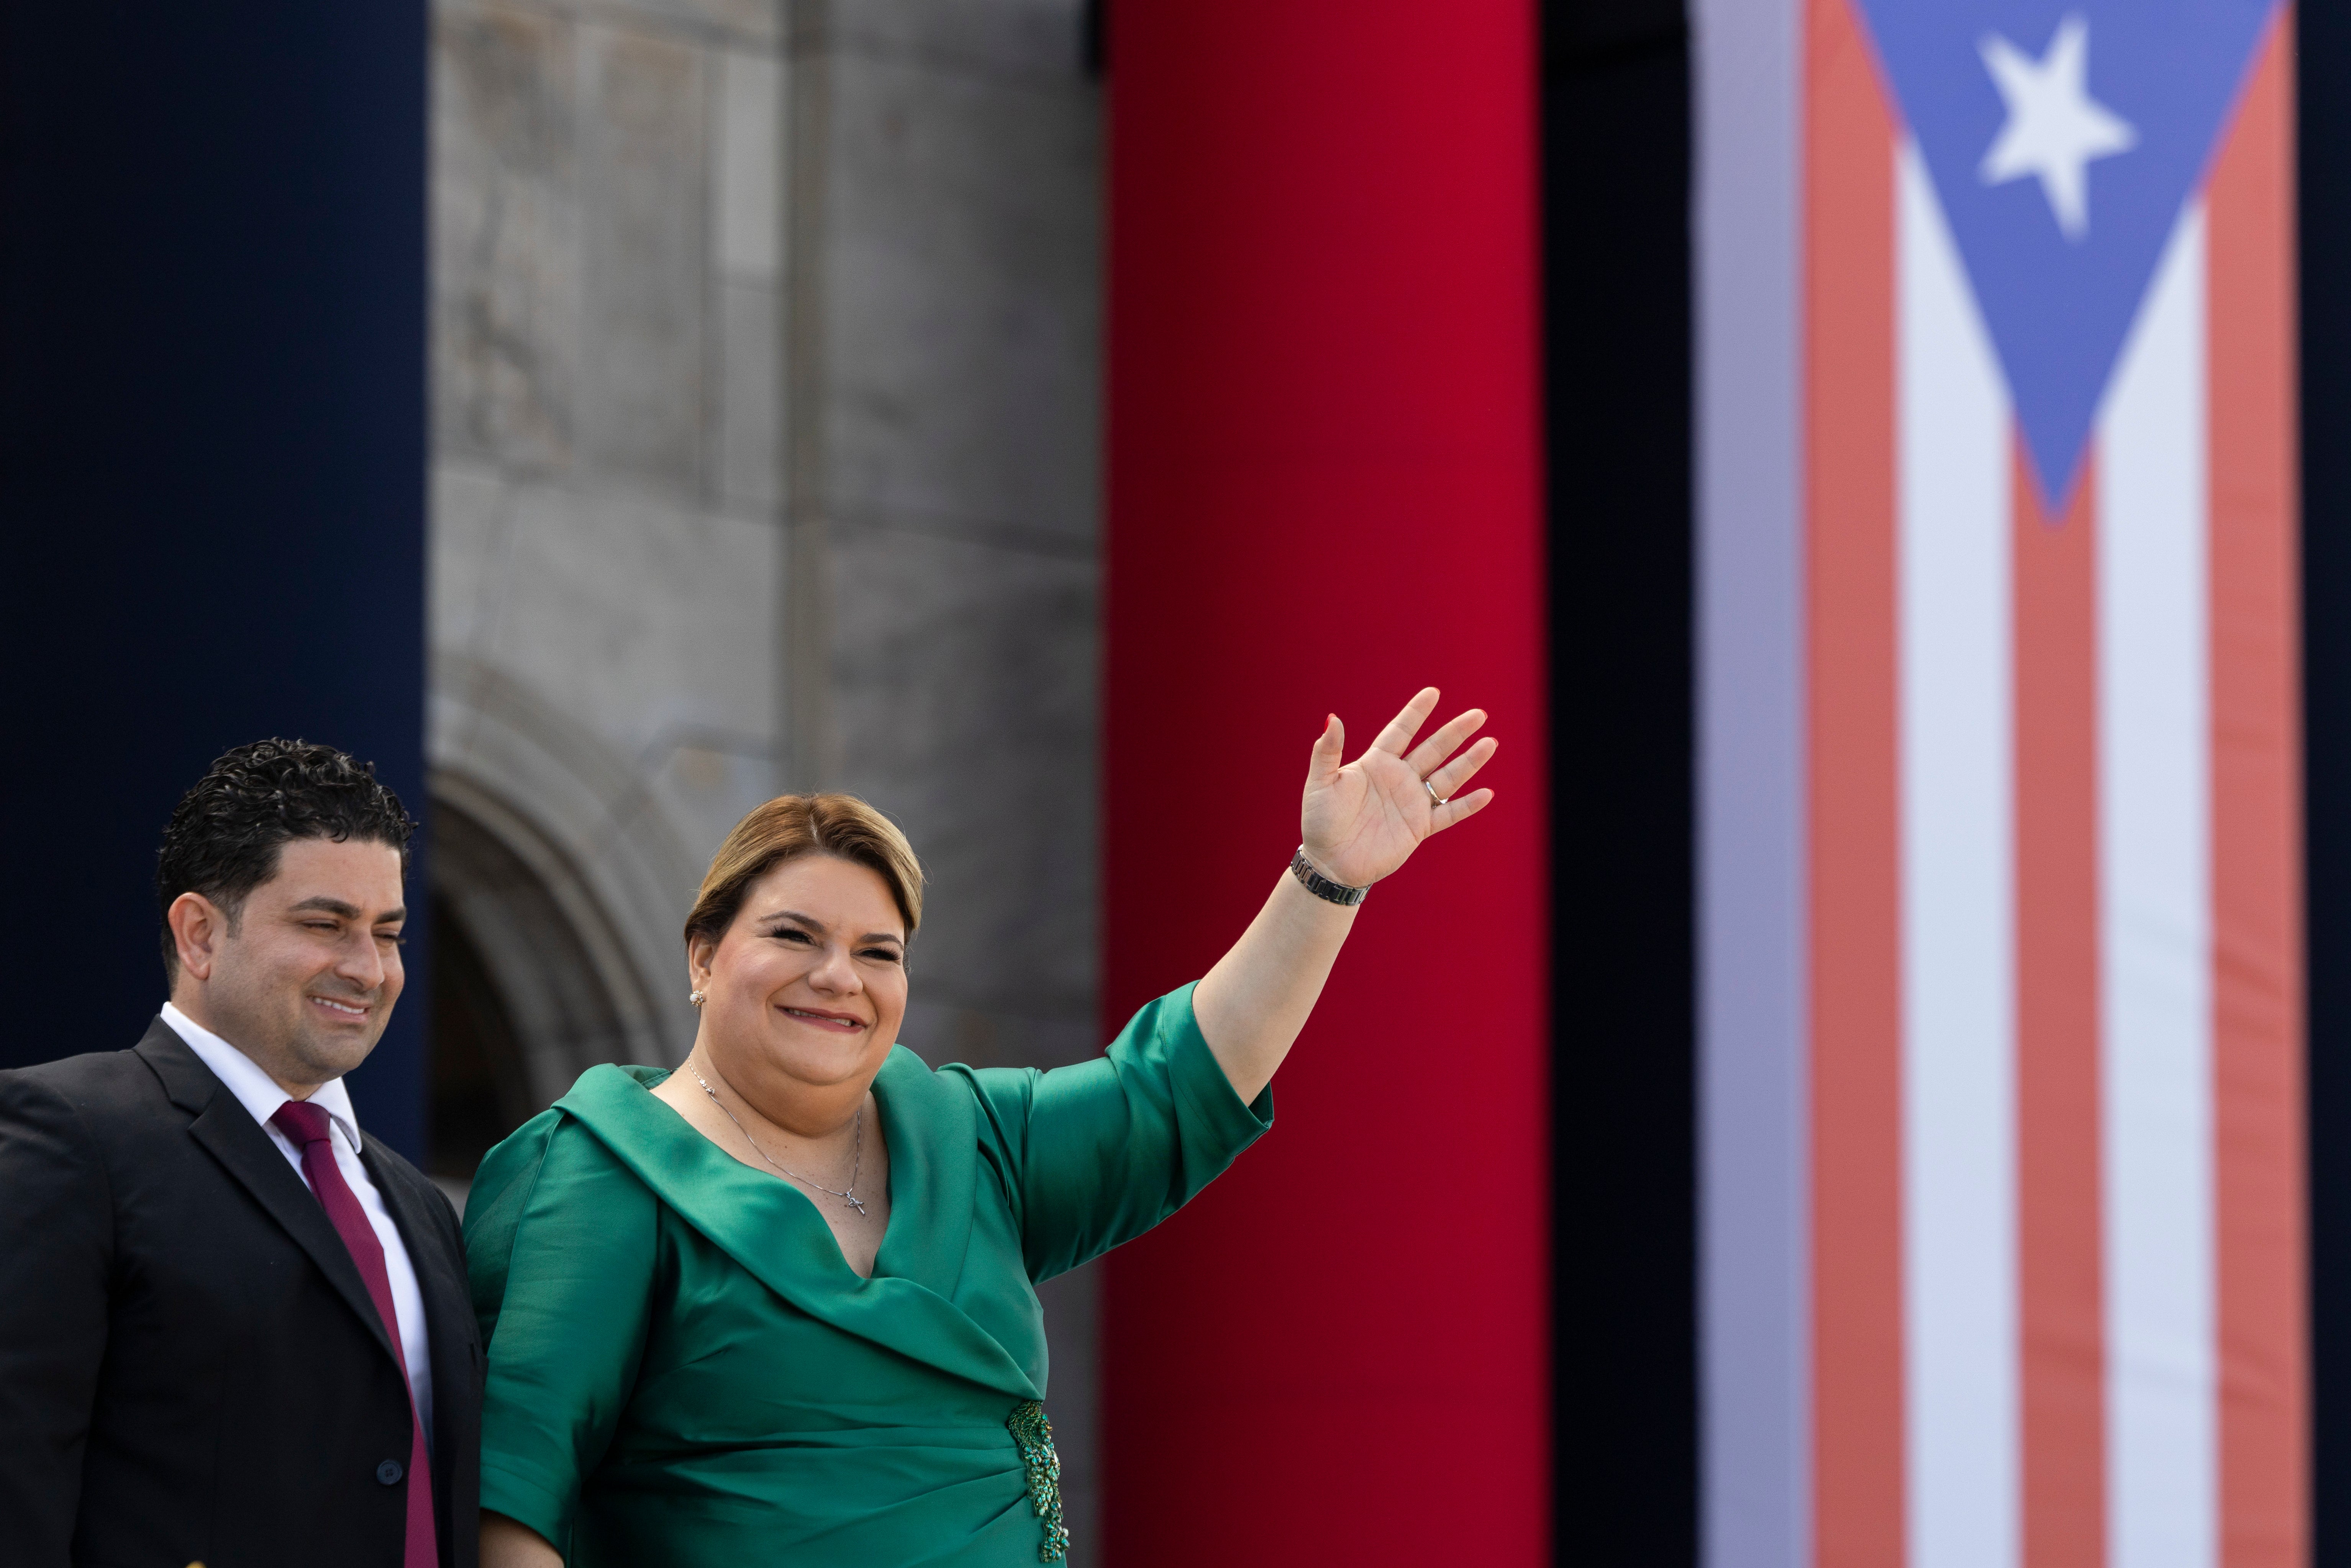
[[738, 12], [435, 7], [430, 762], [602, 896], [644, 1060], [691, 1037], [701, 865], [785, 778], [788, 71]]

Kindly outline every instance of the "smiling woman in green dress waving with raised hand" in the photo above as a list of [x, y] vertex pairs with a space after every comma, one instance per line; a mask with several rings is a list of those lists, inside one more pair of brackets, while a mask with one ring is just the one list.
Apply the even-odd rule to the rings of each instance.
[[1034, 1281], [1168, 1218], [1272, 1126], [1267, 1084], [1361, 889], [1479, 811], [1469, 710], [1333, 717], [1302, 844], [1241, 940], [1091, 1063], [931, 1070], [896, 1044], [922, 872], [844, 795], [788, 795], [686, 919], [694, 1051], [592, 1067], [482, 1161], [482, 1568], [1060, 1561]]

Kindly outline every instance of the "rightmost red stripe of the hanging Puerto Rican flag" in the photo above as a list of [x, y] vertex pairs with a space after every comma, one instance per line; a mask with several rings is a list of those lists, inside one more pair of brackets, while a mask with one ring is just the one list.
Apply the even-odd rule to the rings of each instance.
[[2208, 190], [2212, 1131], [2224, 1568], [2309, 1561], [2292, 12]]

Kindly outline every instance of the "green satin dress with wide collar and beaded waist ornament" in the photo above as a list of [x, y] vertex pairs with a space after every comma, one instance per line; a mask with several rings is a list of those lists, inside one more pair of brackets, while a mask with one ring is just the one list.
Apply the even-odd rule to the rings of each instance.
[[893, 1048], [872, 1279], [799, 1187], [656, 1100], [663, 1077], [590, 1067], [475, 1178], [482, 1507], [571, 1568], [1056, 1561], [1034, 1281], [1168, 1218], [1272, 1126], [1192, 987], [1077, 1067]]

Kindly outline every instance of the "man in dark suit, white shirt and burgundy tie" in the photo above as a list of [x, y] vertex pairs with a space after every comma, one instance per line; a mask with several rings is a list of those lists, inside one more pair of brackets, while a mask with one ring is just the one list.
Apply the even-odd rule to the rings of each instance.
[[456, 1213], [343, 1091], [411, 830], [343, 752], [228, 752], [165, 830], [162, 1016], [0, 1072], [7, 1568], [473, 1568]]

